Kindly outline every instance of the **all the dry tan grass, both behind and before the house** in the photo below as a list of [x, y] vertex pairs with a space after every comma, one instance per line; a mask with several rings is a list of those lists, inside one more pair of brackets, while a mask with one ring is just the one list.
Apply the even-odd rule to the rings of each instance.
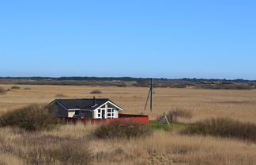
[[[11, 89], [12, 85], [0, 85]], [[31, 103], [49, 103], [57, 97], [108, 97], [123, 113], [146, 114], [156, 119], [163, 112], [181, 108], [190, 111], [193, 123], [211, 117], [229, 117], [256, 123], [256, 90], [154, 90], [153, 111], [144, 111], [147, 88], [92, 86], [27, 86], [0, 94], [0, 113]], [[24, 90], [30, 88], [30, 90]], [[102, 94], [90, 94], [100, 90]], [[43, 153], [62, 144], [79, 145], [92, 152], [92, 164], [256, 164], [256, 144], [229, 138], [188, 136], [176, 130], [155, 130], [151, 137], [107, 140], [92, 136], [98, 126], [64, 125], [55, 130], [28, 133], [0, 129], [0, 164], [47, 164]], [[81, 157], [80, 159], [83, 159]], [[86, 162], [86, 159], [85, 159]], [[56, 161], [55, 164], [62, 164]]]

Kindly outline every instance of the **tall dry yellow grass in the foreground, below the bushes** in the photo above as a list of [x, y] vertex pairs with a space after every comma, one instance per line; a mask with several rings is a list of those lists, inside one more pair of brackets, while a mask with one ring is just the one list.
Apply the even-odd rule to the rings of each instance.
[[[44, 159], [47, 149], [62, 144], [79, 145], [92, 152], [92, 164], [254, 164], [256, 145], [228, 138], [185, 136], [155, 131], [151, 137], [97, 139], [98, 126], [64, 125], [57, 130], [29, 133], [1, 128], [0, 163], [28, 164]], [[39, 152], [45, 149], [44, 152]], [[33, 154], [32, 154], [33, 153]], [[55, 162], [55, 164], [61, 164]]]

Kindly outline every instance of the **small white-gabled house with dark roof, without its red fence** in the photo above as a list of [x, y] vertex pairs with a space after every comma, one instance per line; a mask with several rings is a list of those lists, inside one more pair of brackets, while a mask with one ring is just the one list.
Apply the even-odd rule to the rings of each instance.
[[56, 116], [91, 119], [118, 118], [122, 108], [107, 98], [56, 99], [46, 108]]

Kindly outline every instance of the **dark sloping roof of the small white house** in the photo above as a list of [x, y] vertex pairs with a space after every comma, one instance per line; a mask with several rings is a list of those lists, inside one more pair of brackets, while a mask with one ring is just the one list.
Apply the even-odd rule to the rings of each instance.
[[[79, 98], [79, 99], [56, 99], [62, 106], [67, 109], [88, 109], [94, 110], [104, 105], [107, 101], [111, 101], [108, 98], [96, 98], [95, 105], [93, 104], [93, 98]], [[54, 101], [53, 101], [54, 102]], [[111, 101], [112, 102], [112, 101]], [[50, 103], [51, 104], [51, 103]]]

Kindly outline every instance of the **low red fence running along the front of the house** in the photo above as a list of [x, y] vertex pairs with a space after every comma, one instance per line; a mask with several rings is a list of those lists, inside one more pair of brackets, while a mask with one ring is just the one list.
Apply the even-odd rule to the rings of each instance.
[[130, 115], [130, 114], [119, 114], [119, 118], [113, 119], [90, 119], [90, 118], [73, 118], [73, 117], [62, 117], [58, 116], [63, 122], [67, 123], [77, 123], [77, 121], [81, 121], [82, 123], [109, 123], [113, 121], [119, 121], [122, 123], [141, 123], [141, 124], [148, 124], [149, 123], [149, 116], [142, 116], [142, 115]]

